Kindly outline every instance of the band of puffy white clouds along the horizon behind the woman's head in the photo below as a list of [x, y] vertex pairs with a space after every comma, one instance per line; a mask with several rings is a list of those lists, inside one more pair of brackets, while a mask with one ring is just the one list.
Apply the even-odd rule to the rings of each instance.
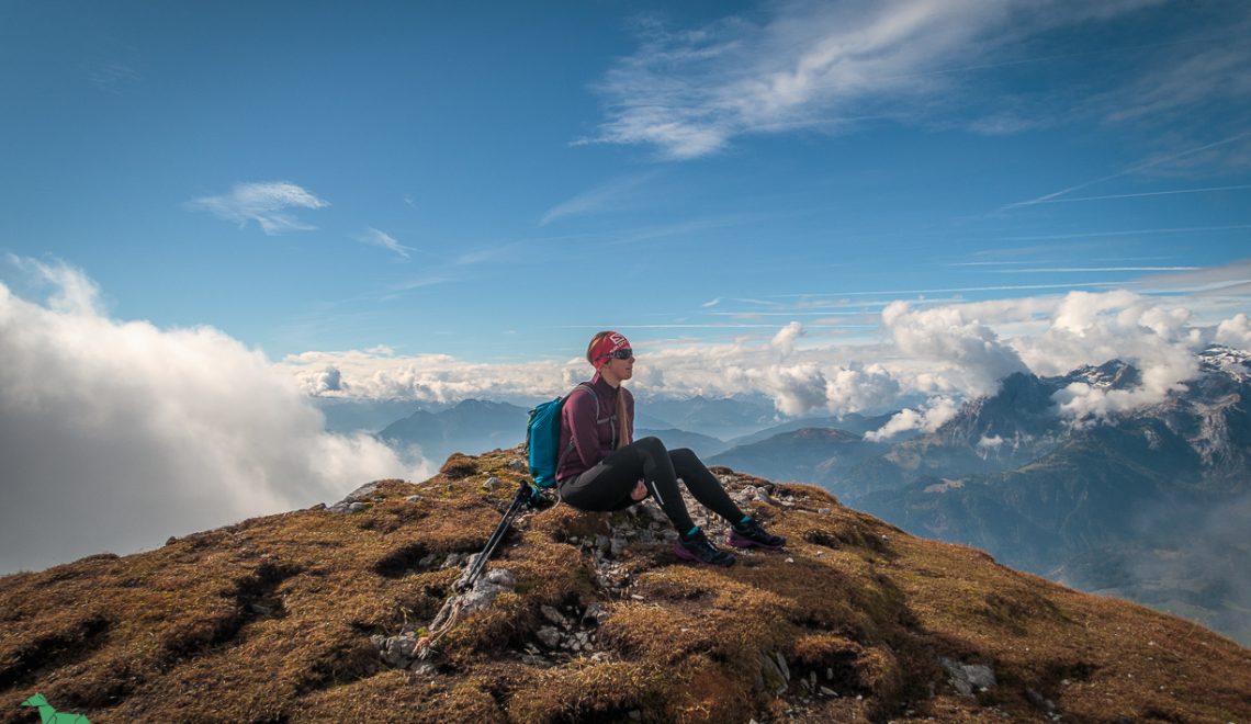
[[[1245, 313], [1203, 321], [1187, 304], [1198, 303], [1126, 290], [937, 306], [896, 301], [883, 309], [873, 344], [841, 344], [834, 336], [809, 334], [797, 321], [771, 338], [722, 344], [636, 339], [639, 363], [631, 384], [644, 399], [762, 394], [784, 416], [906, 406], [876, 433], [888, 439], [937, 428], [962, 399], [993, 394], [1012, 373], [1060, 375], [1111, 359], [1137, 366], [1137, 389], [1075, 384], [1060, 395], [1066, 416], [1103, 416], [1162, 401], [1181, 389], [1197, 374], [1195, 353], [1206, 345], [1251, 348]], [[549, 398], [590, 371], [580, 358], [484, 365], [390, 350], [310, 351], [286, 358], [281, 366], [310, 395], [438, 403]]]

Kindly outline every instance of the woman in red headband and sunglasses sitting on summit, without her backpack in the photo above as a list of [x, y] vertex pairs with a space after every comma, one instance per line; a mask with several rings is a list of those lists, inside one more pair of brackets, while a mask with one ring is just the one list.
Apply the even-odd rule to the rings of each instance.
[[564, 503], [589, 511], [620, 510], [652, 495], [678, 530], [673, 546], [678, 558], [733, 565], [734, 556], [713, 545], [691, 520], [678, 489], [681, 479], [696, 500], [729, 521], [729, 545], [786, 545], [784, 538], [768, 534], [734, 505], [694, 453], [667, 450], [658, 438], [632, 441], [634, 396], [622, 381], [634, 374], [634, 353], [624, 335], [600, 331], [590, 338], [587, 361], [595, 375], [569, 393], [560, 411], [564, 454], [555, 478]]

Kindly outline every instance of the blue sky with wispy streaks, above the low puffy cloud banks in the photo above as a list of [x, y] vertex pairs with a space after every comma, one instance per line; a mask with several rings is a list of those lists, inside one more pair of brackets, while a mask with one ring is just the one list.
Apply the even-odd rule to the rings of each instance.
[[1100, 8], [6, 4], [0, 246], [271, 359], [484, 363], [1248, 256], [1245, 6]]

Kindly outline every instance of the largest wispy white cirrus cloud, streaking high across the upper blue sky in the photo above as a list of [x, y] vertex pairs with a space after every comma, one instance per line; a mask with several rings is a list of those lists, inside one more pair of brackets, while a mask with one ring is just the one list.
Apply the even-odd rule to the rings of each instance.
[[[1012, 55], [1020, 41], [1157, 4], [797, 0], [772, 5], [761, 23], [727, 18], [672, 30], [644, 19], [638, 51], [594, 86], [607, 109], [598, 135], [579, 143], [651, 145], [692, 159], [744, 134], [848, 130], [868, 119], [932, 124], [943, 98], [972, 89], [968, 74], [1033, 63]], [[1040, 60], [1055, 58], [1065, 56]], [[1003, 103], [977, 101], [985, 108], [946, 113], [981, 133], [1036, 125]]]

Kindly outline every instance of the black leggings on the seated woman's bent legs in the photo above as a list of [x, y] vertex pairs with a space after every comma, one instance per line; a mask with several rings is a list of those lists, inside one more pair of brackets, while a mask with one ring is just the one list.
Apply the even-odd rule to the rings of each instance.
[[638, 503], [631, 493], [643, 480], [648, 494], [684, 535], [694, 523], [682, 501], [678, 478], [704, 508], [731, 523], [743, 519], [743, 511], [726, 494], [721, 480], [694, 453], [687, 448], [666, 450], [658, 438], [643, 438], [613, 450], [594, 468], [562, 481], [560, 499], [579, 510], [622, 510]]

